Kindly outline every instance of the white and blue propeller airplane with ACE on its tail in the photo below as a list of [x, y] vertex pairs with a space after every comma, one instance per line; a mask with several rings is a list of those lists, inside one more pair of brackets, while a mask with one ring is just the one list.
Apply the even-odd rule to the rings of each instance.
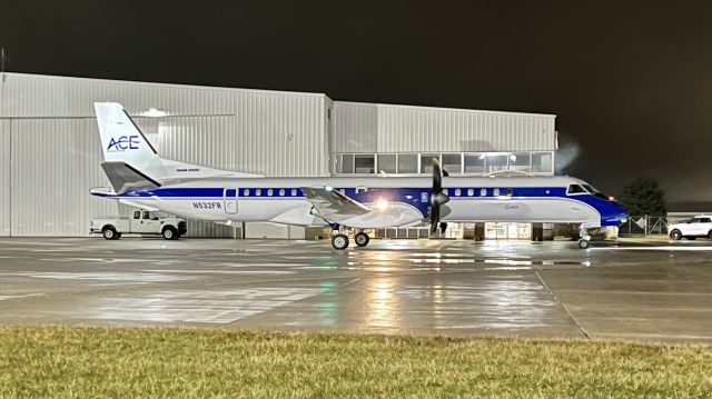
[[619, 226], [627, 212], [612, 197], [566, 176], [449, 177], [437, 159], [433, 177], [265, 177], [161, 158], [119, 103], [95, 110], [110, 188], [93, 196], [182, 218], [233, 222], [330, 226], [332, 246], [368, 245], [366, 231], [449, 222]]

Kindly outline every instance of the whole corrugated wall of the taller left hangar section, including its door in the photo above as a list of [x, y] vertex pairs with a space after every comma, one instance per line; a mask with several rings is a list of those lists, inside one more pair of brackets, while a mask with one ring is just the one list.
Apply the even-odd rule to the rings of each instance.
[[[169, 112], [136, 118], [166, 158], [268, 176], [328, 176], [324, 94], [22, 73], [8, 73], [0, 84], [0, 121], [12, 129], [13, 236], [85, 236], [95, 216], [128, 215], [128, 207], [88, 193], [108, 186], [96, 101], [121, 102], [135, 116]], [[188, 228], [191, 237], [234, 236], [212, 222]]]

